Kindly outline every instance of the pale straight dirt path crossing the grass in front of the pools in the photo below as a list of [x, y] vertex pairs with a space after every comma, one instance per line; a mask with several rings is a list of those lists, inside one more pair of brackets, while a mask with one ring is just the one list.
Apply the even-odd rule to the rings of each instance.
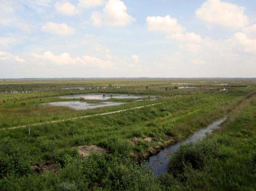
[[[161, 102], [161, 103], [163, 103], [163, 102]], [[86, 116], [81, 116], [81, 117], [76, 117], [76, 118], [60, 119], [60, 120], [48, 121], [48, 122], [43, 122], [43, 123], [39, 123], [39, 124], [29, 124], [29, 125], [30, 126], [35, 126], [35, 125], [42, 125], [42, 124], [57, 123], [57, 122], [62, 122], [62, 121], [69, 121], [69, 120], [80, 119], [80, 118], [89, 118], [89, 117], [98, 116], [98, 115], [108, 115], [108, 114], [113, 114], [113, 113], [125, 112], [125, 111], [131, 110], [131, 109], [140, 109], [140, 108], [143, 108], [143, 107], [155, 106], [155, 105], [158, 105], [158, 104], [161, 104], [161, 103], [154, 103], [154, 104], [150, 104], [150, 105], [146, 105], [146, 106], [133, 107], [133, 108], [118, 110], [118, 111], [114, 111], [114, 112], [105, 112], [105, 113], [86, 115]], [[28, 127], [29, 125], [22, 125], [22, 126], [16, 126], [16, 127], [6, 127], [6, 128], [2, 128], [0, 130], [18, 129], [18, 128], [23, 128], [23, 127]]]

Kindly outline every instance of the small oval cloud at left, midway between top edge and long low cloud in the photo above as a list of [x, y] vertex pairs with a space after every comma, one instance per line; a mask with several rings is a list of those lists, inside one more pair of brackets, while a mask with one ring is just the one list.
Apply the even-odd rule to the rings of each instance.
[[73, 28], [68, 27], [65, 23], [55, 23], [55, 22], [47, 22], [42, 26], [42, 31], [59, 34], [62, 36], [74, 34], [75, 31]]

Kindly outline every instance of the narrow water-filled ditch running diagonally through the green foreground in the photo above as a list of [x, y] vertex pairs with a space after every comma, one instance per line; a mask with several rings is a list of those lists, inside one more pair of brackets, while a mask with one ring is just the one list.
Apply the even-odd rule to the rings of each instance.
[[[196, 130], [193, 135], [185, 138], [185, 140], [183, 140], [183, 143], [196, 142], [198, 139], [204, 137], [206, 133], [211, 133], [214, 129], [220, 128], [220, 124], [222, 124], [224, 121], [226, 121], [226, 117], [214, 121], [212, 124], [209, 124], [205, 128]], [[177, 151], [179, 146], [180, 143], [176, 143], [174, 145], [169, 146], [168, 148], [162, 149], [156, 155], [149, 157], [146, 160], [147, 167], [149, 168], [150, 165], [153, 165], [153, 168], [155, 169], [155, 175], [166, 173], [169, 158], [172, 157], [173, 153]]]

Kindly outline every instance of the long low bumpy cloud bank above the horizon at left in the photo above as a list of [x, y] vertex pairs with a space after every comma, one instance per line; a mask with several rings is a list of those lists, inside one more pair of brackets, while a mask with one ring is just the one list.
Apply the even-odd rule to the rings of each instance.
[[54, 55], [51, 51], [46, 51], [42, 55], [33, 53], [31, 56], [41, 59], [42, 62], [50, 61], [58, 65], [77, 65], [82, 64], [83, 66], [96, 66], [96, 67], [112, 67], [113, 63], [110, 61], [104, 61], [93, 56], [82, 56], [72, 58], [69, 53], [62, 53], [60, 55]]

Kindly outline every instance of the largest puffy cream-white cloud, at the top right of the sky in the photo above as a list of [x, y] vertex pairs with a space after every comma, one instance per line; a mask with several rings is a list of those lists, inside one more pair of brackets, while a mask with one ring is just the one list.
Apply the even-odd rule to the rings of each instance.
[[248, 24], [248, 18], [244, 15], [244, 7], [221, 0], [207, 0], [195, 13], [198, 19], [210, 25], [237, 29]]

